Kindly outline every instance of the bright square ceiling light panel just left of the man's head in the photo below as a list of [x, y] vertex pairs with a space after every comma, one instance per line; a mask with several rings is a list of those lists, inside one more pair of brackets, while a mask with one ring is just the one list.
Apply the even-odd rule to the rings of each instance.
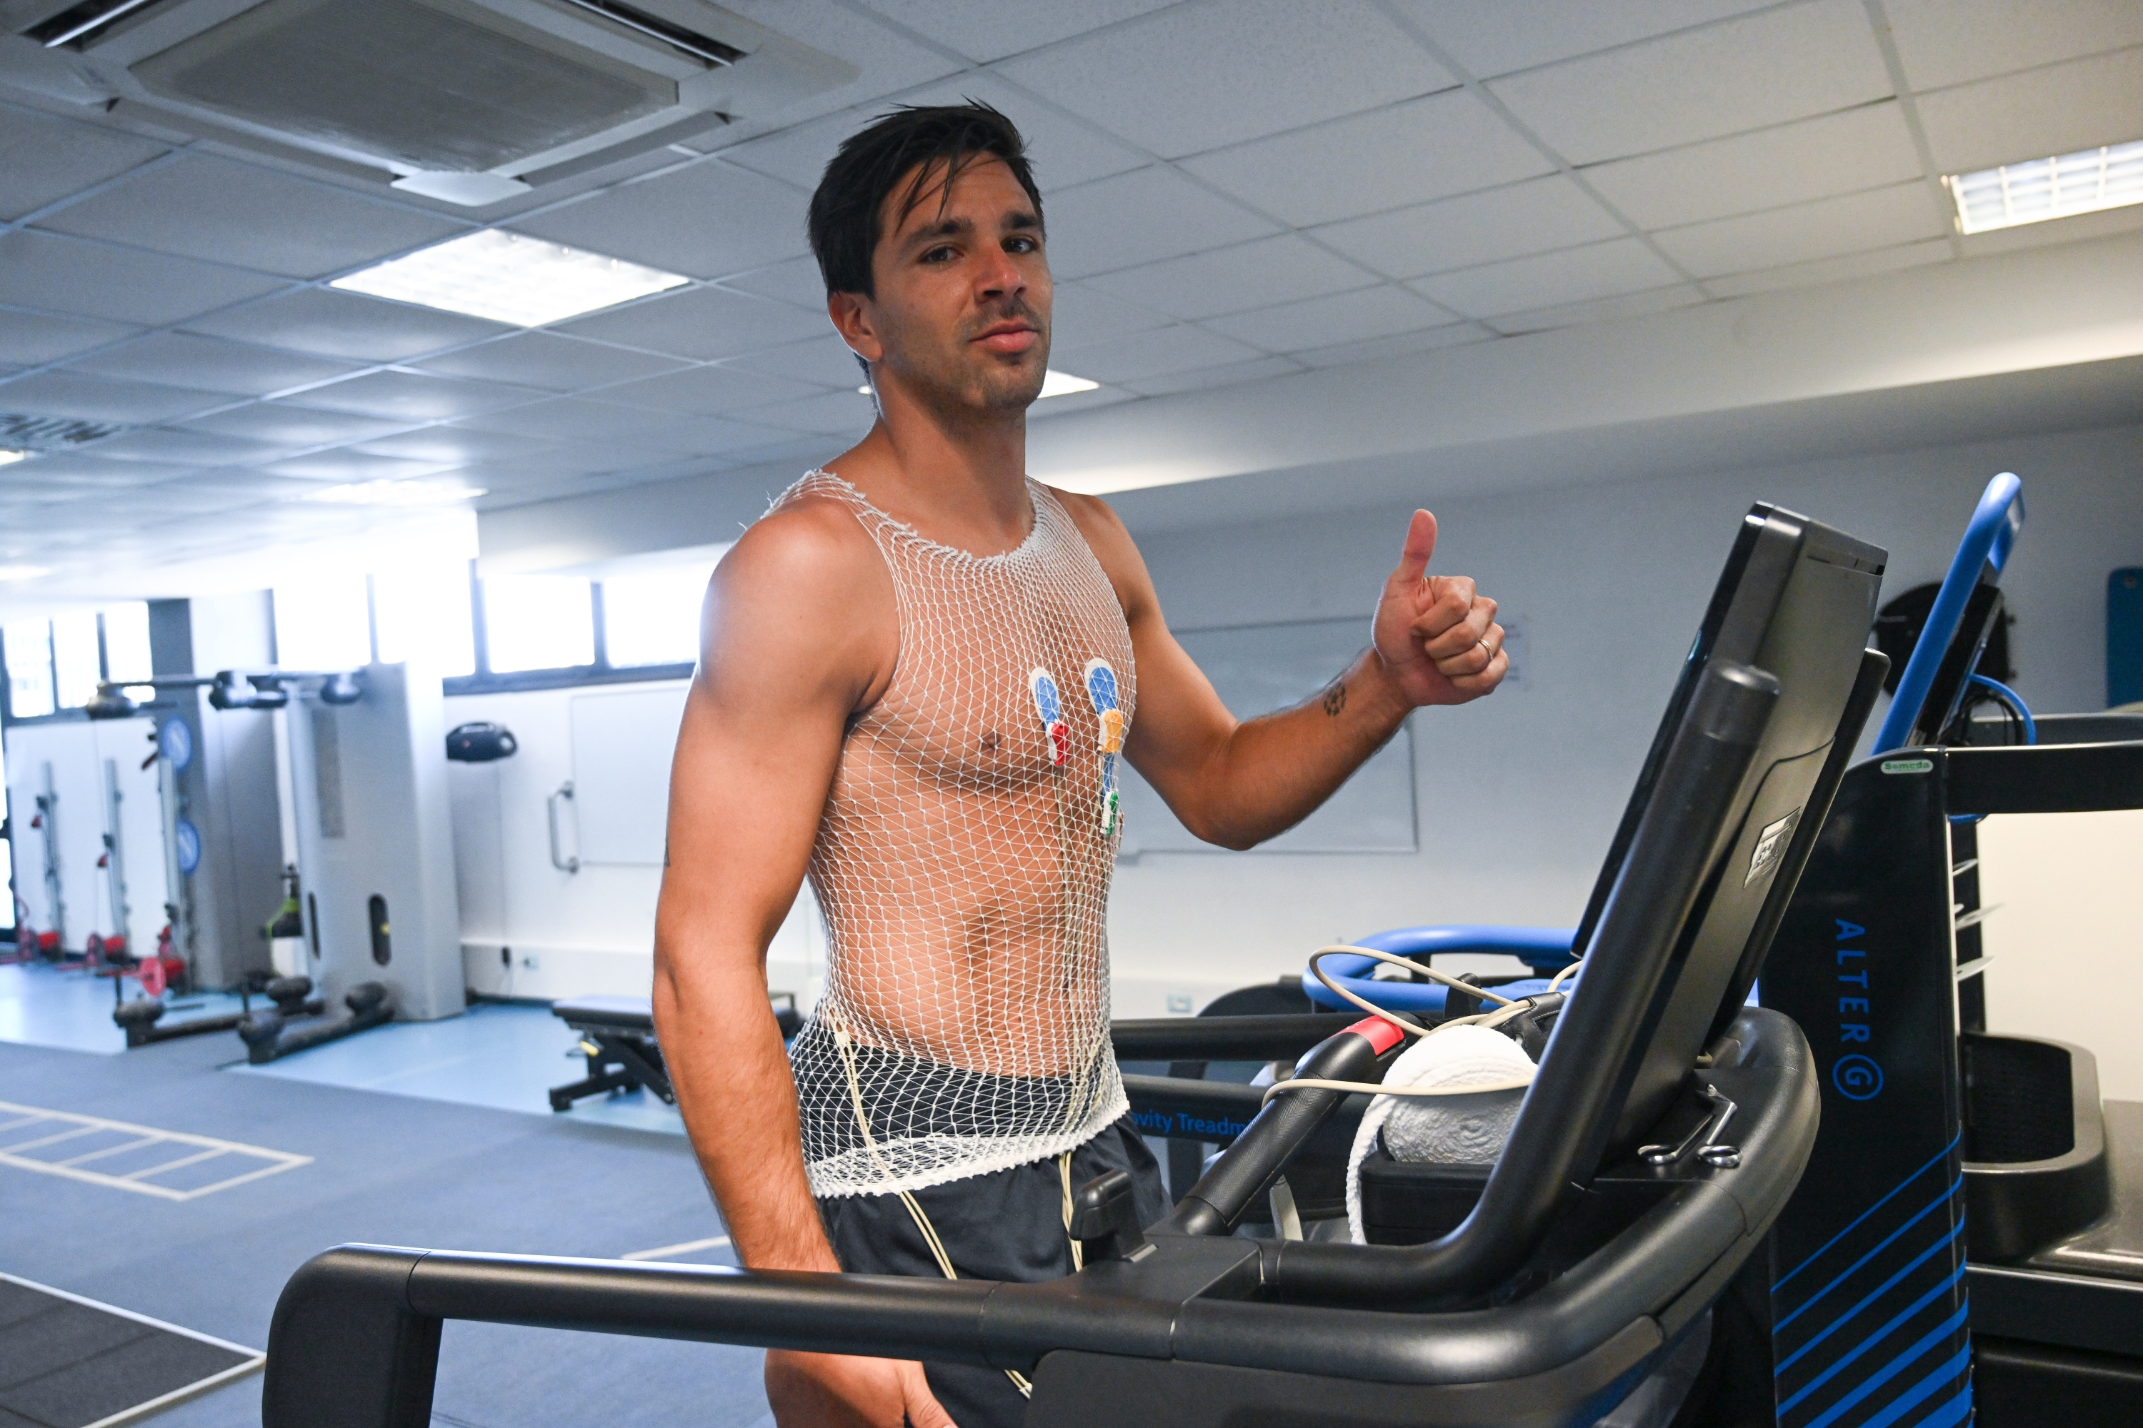
[[686, 283], [690, 278], [675, 272], [484, 229], [375, 263], [328, 287], [516, 328], [542, 328]]

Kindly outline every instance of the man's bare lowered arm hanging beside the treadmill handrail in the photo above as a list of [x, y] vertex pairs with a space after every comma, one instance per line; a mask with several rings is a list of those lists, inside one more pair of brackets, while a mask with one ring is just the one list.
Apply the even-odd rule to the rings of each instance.
[[[891, 578], [844, 510], [752, 527], [714, 574], [671, 764], [656, 908], [656, 1034], [737, 1257], [838, 1270], [767, 1004], [767, 944], [795, 903], [846, 719], [898, 657]], [[782, 1424], [949, 1426], [919, 1364], [769, 1353]]]

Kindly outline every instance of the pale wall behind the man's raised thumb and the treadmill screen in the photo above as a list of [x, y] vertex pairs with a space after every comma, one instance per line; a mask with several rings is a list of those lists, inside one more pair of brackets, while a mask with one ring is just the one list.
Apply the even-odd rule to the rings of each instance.
[[[1301, 970], [1333, 936], [1575, 921], [1749, 503], [1886, 546], [1897, 593], [1942, 576], [2004, 469], [2023, 475], [2029, 512], [2004, 578], [2019, 689], [2036, 709], [2098, 709], [2104, 578], [2143, 561], [2137, 426], [1434, 501], [1434, 569], [1477, 576], [1524, 617], [1530, 657], [1522, 687], [1414, 715], [1421, 852], [1142, 854], [1110, 906], [1119, 976], [1202, 993]], [[1166, 531], [1142, 548], [1177, 627], [1367, 619], [1406, 510]]]

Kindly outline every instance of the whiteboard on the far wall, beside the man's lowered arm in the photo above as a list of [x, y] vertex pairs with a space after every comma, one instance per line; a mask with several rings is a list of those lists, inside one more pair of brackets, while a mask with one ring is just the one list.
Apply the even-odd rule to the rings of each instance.
[[662, 867], [669, 764], [688, 687], [572, 698], [572, 807], [583, 863]]

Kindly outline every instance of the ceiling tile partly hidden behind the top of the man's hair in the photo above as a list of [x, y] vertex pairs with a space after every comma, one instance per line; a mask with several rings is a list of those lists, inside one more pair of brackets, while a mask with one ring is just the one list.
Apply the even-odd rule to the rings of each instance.
[[[986, 71], [971, 71], [924, 86], [921, 90], [902, 94], [900, 103], [958, 105], [969, 98], [994, 105], [1018, 124], [1020, 135], [1026, 139], [1029, 165], [1044, 193], [1151, 163], [1147, 154], [1095, 133], [1089, 124], [1065, 118], [1059, 109]], [[840, 148], [840, 141], [864, 131], [885, 109], [887, 105], [866, 105], [812, 120], [810, 124], [797, 124], [795, 128], [780, 128], [722, 150], [722, 158], [784, 180], [808, 193], [819, 186], [819, 178], [834, 150]]]

